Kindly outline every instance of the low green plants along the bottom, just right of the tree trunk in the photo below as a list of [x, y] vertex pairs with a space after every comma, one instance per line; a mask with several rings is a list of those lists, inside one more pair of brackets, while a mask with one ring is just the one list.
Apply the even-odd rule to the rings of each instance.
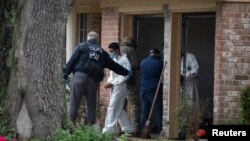
[[74, 131], [57, 129], [52, 135], [53, 141], [111, 141], [111, 134], [102, 134], [94, 126], [76, 127]]

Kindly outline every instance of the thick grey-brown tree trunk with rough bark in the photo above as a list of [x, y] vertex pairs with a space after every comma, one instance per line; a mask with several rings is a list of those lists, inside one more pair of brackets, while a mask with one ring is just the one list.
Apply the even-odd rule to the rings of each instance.
[[8, 106], [19, 139], [50, 140], [64, 120], [62, 64], [73, 0], [19, 0]]

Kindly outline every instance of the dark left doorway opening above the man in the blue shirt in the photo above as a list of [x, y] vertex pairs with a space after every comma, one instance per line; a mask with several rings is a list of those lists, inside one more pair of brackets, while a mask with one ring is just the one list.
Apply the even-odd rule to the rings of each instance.
[[142, 60], [151, 48], [158, 48], [163, 57], [164, 17], [163, 15], [134, 16], [134, 38], [137, 52]]

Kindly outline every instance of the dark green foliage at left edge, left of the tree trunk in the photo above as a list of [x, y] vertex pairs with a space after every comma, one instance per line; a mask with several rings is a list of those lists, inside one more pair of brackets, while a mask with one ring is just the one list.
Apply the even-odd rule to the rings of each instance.
[[6, 107], [8, 100], [8, 83], [13, 59], [13, 47], [16, 30], [17, 1], [4, 0], [0, 5], [0, 135], [11, 138], [14, 129], [10, 125], [10, 118]]

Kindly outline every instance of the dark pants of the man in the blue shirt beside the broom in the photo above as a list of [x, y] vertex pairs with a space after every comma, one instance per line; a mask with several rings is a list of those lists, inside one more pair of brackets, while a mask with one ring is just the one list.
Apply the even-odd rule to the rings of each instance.
[[[144, 128], [145, 122], [149, 118], [149, 113], [151, 106], [153, 104], [154, 96], [155, 96], [155, 89], [145, 89], [141, 90], [141, 130]], [[163, 103], [162, 103], [162, 89], [160, 89], [158, 93], [158, 98], [155, 102], [155, 117], [152, 119], [156, 120], [156, 132], [160, 133], [162, 130], [162, 113], [163, 113]], [[151, 123], [153, 121], [150, 121]]]

